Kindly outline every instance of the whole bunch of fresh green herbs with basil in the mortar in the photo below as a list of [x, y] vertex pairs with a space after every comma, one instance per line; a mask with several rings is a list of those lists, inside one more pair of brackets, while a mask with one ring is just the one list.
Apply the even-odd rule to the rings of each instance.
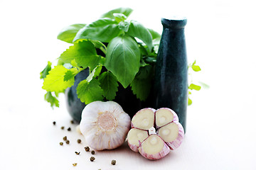
[[73, 86], [75, 75], [90, 69], [80, 81], [78, 98], [85, 104], [103, 99], [113, 100], [117, 87], [132, 87], [132, 92], [145, 101], [151, 90], [151, 79], [161, 35], [137, 21], [129, 21], [131, 8], [117, 8], [90, 24], [74, 24], [61, 30], [58, 39], [72, 43], [41, 72], [46, 101], [59, 106], [58, 94]]

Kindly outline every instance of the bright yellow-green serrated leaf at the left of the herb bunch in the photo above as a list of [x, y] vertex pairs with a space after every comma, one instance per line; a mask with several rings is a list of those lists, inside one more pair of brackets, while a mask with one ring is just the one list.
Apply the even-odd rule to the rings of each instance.
[[46, 79], [43, 81], [43, 89], [46, 91], [55, 91], [56, 93], [63, 92], [70, 86], [73, 86], [75, 79], [64, 81], [65, 73], [68, 71], [62, 65], [55, 66], [50, 70]]

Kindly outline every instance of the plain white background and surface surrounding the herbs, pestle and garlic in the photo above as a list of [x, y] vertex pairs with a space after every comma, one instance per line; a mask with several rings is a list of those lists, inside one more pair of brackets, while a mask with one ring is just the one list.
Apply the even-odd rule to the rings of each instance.
[[[202, 69], [193, 80], [210, 85], [193, 91], [183, 145], [155, 162], [126, 143], [90, 162], [86, 144], [75, 142], [83, 138], [70, 125], [63, 96], [54, 110], [43, 100], [39, 73], [69, 46], [56, 39], [58, 32], [120, 6], [133, 8], [130, 19], [159, 33], [162, 17], [186, 16], [188, 61]], [[0, 0], [0, 169], [256, 169], [255, 14], [248, 0]], [[65, 135], [70, 145], [60, 147]]]

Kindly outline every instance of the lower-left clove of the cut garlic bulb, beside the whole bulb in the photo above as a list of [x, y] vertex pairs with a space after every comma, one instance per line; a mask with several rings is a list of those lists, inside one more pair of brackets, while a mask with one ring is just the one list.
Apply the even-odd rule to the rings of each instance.
[[137, 128], [132, 128], [129, 130], [127, 135], [127, 142], [129, 147], [134, 152], [139, 152], [139, 142], [143, 142], [146, 137], [149, 137], [149, 134], [146, 130], [139, 130]]

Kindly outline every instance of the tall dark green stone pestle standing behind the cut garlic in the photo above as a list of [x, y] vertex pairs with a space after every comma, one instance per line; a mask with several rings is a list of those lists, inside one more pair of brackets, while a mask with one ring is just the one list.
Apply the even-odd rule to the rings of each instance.
[[155, 108], [171, 108], [186, 132], [188, 63], [184, 27], [186, 18], [162, 18], [163, 33], [156, 58]]

